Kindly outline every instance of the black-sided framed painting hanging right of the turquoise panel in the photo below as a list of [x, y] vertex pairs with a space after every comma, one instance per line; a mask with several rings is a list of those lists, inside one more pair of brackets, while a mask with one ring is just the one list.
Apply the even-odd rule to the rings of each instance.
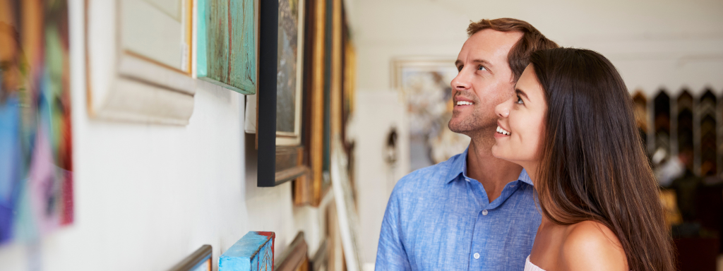
[[260, 1], [259, 93], [254, 97], [258, 186], [276, 186], [308, 171], [301, 144], [304, 7], [304, 0]]

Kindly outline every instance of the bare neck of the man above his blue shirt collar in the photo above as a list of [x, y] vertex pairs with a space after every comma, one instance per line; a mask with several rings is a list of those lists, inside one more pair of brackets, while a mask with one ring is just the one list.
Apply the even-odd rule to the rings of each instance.
[[472, 138], [467, 151], [467, 176], [479, 181], [487, 192], [487, 199], [493, 202], [502, 194], [510, 181], [517, 181], [522, 167], [492, 156], [495, 139]]

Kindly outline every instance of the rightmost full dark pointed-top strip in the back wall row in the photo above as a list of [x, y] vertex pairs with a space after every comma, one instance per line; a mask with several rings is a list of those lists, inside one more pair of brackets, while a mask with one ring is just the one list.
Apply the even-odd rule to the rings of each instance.
[[715, 176], [718, 173], [716, 95], [706, 90], [698, 103], [700, 116], [701, 176]]

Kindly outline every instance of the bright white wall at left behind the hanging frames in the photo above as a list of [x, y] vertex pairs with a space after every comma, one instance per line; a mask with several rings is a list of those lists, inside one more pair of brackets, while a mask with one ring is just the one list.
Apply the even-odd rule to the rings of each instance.
[[323, 213], [294, 207], [291, 183], [256, 187], [242, 95], [197, 81], [188, 126], [88, 118], [82, 3], [69, 1], [75, 221], [0, 246], [0, 270], [167, 270], [203, 244], [217, 261], [247, 231], [275, 231], [277, 255], [304, 231], [313, 255]]

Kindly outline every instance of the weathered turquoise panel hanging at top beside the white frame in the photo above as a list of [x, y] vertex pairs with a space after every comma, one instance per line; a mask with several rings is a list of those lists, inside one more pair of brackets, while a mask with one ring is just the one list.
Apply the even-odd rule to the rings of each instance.
[[197, 76], [241, 94], [256, 93], [254, 0], [199, 0]]

